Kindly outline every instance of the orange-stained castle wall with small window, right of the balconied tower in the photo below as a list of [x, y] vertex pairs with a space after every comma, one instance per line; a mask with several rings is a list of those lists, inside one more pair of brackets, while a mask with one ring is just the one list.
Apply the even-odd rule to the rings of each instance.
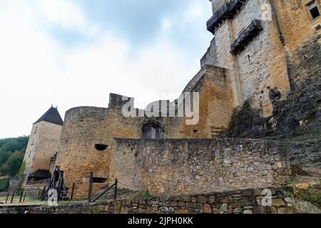
[[[274, 1], [289, 56], [293, 90], [321, 80], [321, 16], [310, 17], [310, 0]], [[321, 1], [317, 0], [319, 11]]]

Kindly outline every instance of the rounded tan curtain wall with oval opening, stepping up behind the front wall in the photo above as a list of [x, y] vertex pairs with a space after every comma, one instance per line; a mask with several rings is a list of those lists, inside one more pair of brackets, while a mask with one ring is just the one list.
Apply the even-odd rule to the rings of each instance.
[[[179, 117], [154, 118], [163, 127], [163, 138], [212, 138], [225, 133], [234, 108], [230, 84], [228, 70], [204, 66], [184, 90], [200, 92], [198, 124], [186, 125], [186, 118]], [[113, 178], [108, 178], [113, 138], [142, 138], [142, 127], [150, 119], [124, 117], [124, 103], [121, 95], [111, 94], [108, 108], [79, 107], [66, 112], [56, 165], [65, 172], [68, 185], [76, 182], [76, 197], [87, 194], [89, 172], [106, 179], [104, 183], [95, 183], [93, 191], [113, 182]], [[98, 151], [97, 144], [108, 147]]]

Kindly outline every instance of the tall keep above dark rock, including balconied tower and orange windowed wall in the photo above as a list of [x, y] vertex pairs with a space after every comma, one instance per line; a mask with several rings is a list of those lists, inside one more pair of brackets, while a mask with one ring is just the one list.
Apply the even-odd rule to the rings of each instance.
[[210, 0], [214, 38], [201, 63], [232, 73], [234, 101], [272, 114], [270, 89], [286, 97], [320, 81], [320, 0]]

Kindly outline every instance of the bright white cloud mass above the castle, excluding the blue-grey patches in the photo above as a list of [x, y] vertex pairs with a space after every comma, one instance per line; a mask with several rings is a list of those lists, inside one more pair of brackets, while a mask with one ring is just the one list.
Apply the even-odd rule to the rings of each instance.
[[[138, 53], [111, 33], [63, 48], [46, 33], [41, 16], [89, 36], [99, 29], [71, 3], [0, 0], [0, 138], [29, 134], [31, 123], [51, 104], [63, 115], [79, 105], [107, 107], [109, 93], [133, 96], [139, 108], [160, 98], [173, 100], [197, 73], [198, 57], [185, 56], [165, 36]], [[164, 29], [178, 28], [176, 18], [164, 20]]]

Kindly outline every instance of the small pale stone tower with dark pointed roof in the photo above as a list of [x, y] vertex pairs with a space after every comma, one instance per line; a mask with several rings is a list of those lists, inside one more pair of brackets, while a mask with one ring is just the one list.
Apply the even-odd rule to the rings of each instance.
[[52, 106], [33, 124], [24, 155], [24, 184], [50, 177], [51, 160], [58, 152], [62, 125], [61, 115]]

